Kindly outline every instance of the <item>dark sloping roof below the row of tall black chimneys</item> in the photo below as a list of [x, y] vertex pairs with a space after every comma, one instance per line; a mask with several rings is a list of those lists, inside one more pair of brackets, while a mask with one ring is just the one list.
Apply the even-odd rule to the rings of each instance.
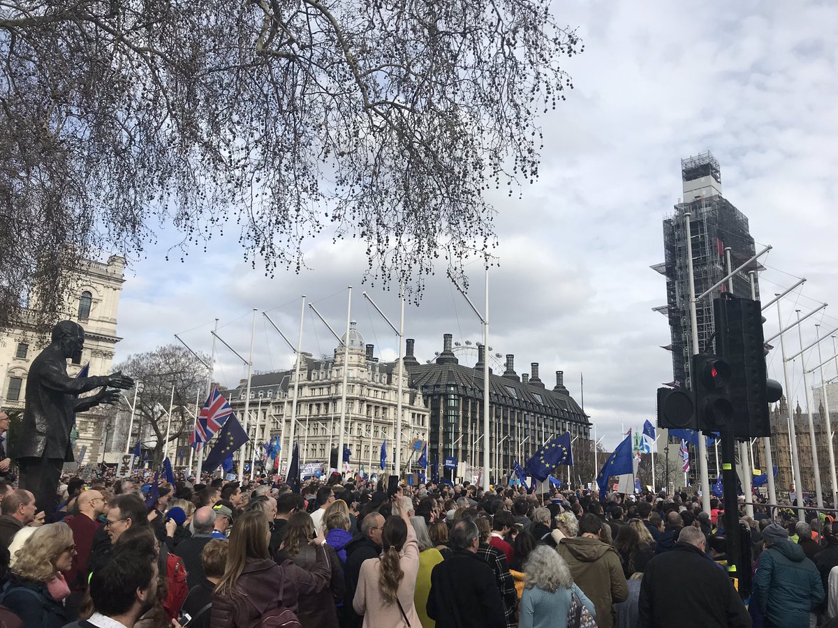
[[[440, 391], [448, 385], [458, 387], [460, 394], [483, 398], [483, 373], [460, 364], [419, 364], [409, 368], [411, 387], [427, 389], [438, 387]], [[539, 385], [532, 386], [512, 378], [489, 374], [489, 394], [495, 403], [531, 409], [544, 414], [559, 415], [562, 418], [585, 421], [587, 416], [566, 389], [550, 390]]]

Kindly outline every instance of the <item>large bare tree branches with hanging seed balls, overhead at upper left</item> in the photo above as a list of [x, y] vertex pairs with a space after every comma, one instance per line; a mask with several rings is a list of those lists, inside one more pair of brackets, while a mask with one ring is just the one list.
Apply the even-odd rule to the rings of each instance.
[[[491, 189], [538, 176], [582, 51], [549, 0], [0, 4], [0, 312], [173, 224], [300, 270], [328, 226], [422, 290], [494, 245]], [[40, 280], [40, 282], [38, 281]], [[2, 323], [3, 321], [0, 321]]]

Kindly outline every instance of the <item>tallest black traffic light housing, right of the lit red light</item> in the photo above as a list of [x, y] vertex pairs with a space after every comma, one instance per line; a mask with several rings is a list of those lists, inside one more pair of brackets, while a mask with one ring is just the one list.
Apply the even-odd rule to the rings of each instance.
[[762, 306], [728, 294], [715, 299], [713, 308], [716, 347], [732, 370], [734, 434], [740, 440], [770, 436], [768, 404], [779, 400], [783, 387], [768, 379], [765, 368]]

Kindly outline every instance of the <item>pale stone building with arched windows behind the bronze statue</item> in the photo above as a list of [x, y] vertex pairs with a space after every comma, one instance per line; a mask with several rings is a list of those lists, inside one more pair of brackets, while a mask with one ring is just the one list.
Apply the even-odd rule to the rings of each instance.
[[[114, 347], [121, 340], [116, 336], [116, 311], [122, 292], [125, 260], [111, 255], [106, 263], [87, 260], [72, 273], [73, 286], [65, 300], [64, 318], [78, 322], [85, 328], [85, 350], [79, 363], [68, 364], [67, 372], [75, 376], [90, 363], [91, 375], [111, 372]], [[23, 409], [26, 378], [35, 356], [49, 344], [49, 333], [39, 333], [28, 325], [26, 317], [18, 327], [0, 334], [0, 405], [3, 408]], [[106, 422], [101, 409], [92, 409], [77, 417], [78, 440], [75, 458], [85, 448], [83, 463], [101, 460], [111, 436], [106, 434]]]

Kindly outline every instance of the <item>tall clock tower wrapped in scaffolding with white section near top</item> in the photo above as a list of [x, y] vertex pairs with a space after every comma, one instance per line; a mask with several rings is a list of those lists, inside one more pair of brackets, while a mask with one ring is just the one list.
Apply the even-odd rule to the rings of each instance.
[[[664, 219], [663, 264], [652, 268], [666, 277], [666, 306], [654, 308], [669, 318], [672, 352], [672, 385], [690, 388], [692, 334], [690, 330], [690, 286], [687, 273], [684, 214], [691, 213], [692, 263], [696, 296], [700, 296], [727, 275], [725, 249], [731, 249], [732, 267], [742, 265], [755, 254], [754, 242], [748, 232], [747, 218], [722, 196], [722, 169], [711, 152], [681, 159], [683, 202]], [[757, 262], [733, 278], [733, 294], [751, 297], [749, 270], [761, 270]], [[755, 275], [756, 278], [756, 275]], [[723, 284], [696, 304], [698, 343], [701, 352], [712, 351], [711, 336], [716, 328], [713, 320], [713, 299], [727, 291]], [[756, 286], [759, 298], [759, 285]], [[714, 451], [708, 451], [714, 459]], [[692, 456], [691, 456], [692, 457]], [[697, 465], [693, 465], [695, 470]], [[715, 465], [708, 465], [711, 475]], [[693, 471], [695, 473], [695, 471]]]

